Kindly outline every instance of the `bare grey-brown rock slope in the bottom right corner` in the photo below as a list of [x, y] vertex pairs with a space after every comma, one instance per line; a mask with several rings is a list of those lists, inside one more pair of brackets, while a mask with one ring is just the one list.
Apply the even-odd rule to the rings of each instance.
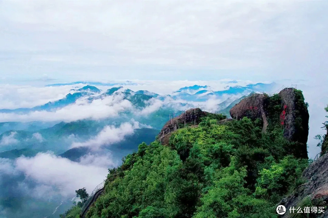
[[[302, 175], [307, 182], [299, 186], [292, 195], [284, 198], [279, 203], [284, 205], [286, 210], [290, 207], [297, 207], [302, 200], [309, 196], [313, 202], [313, 206], [328, 206], [328, 154], [323, 155], [313, 162]], [[289, 211], [282, 217], [290, 217]], [[328, 217], [328, 210], [320, 218]]]

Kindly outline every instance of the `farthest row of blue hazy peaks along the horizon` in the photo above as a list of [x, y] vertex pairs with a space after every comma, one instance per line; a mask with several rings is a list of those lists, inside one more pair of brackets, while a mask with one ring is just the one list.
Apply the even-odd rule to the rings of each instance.
[[[74, 82], [72, 84], [80, 84], [81, 82]], [[97, 83], [100, 84], [100, 83]], [[89, 102], [92, 102], [95, 99], [104, 98], [108, 95], [113, 94], [123, 94], [124, 99], [127, 99], [131, 101], [131, 103], [135, 107], [146, 107], [147, 101], [151, 98], [157, 98], [159, 100], [164, 100], [166, 97], [172, 97], [174, 100], [182, 99], [187, 101], [198, 101], [198, 102], [204, 102], [208, 100], [209, 98], [222, 98], [225, 95], [229, 97], [228, 95], [237, 95], [237, 94], [249, 94], [252, 91], [271, 91], [274, 87], [276, 87], [276, 83], [256, 83], [256, 84], [249, 84], [247, 86], [227, 86], [225, 90], [220, 91], [212, 91], [211, 87], [209, 86], [188, 86], [183, 87], [177, 90], [173, 93], [173, 95], [159, 95], [154, 92], [149, 92], [147, 90], [139, 90], [136, 92], [133, 92], [130, 89], [123, 90], [123, 86], [117, 86], [112, 87], [108, 90], [106, 90], [104, 93], [101, 93], [101, 90], [99, 90], [95, 86], [86, 85], [78, 90], [75, 93], [69, 93], [65, 96], [63, 99], [59, 99], [57, 101], [48, 102], [44, 105], [36, 106], [33, 108], [18, 108], [18, 109], [0, 109], [0, 113], [28, 113], [30, 111], [37, 111], [37, 110], [55, 110], [62, 107], [65, 107], [67, 105], [73, 104], [76, 102], [77, 99], [84, 97], [84, 96], [90, 96], [88, 98]], [[101, 93], [101, 94], [100, 94]]]

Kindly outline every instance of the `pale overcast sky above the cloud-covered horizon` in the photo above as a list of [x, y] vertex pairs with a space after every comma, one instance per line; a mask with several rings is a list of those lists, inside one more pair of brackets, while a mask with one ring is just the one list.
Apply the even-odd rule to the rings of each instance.
[[327, 80], [328, 1], [0, 1], [0, 83]]

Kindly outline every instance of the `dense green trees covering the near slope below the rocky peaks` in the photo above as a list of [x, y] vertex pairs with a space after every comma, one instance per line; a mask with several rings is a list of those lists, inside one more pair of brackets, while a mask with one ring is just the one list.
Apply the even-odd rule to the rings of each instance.
[[140, 144], [109, 169], [86, 217], [277, 217], [275, 205], [303, 182], [308, 160], [289, 153], [282, 131], [262, 134], [260, 125], [205, 117], [175, 131], [169, 146]]

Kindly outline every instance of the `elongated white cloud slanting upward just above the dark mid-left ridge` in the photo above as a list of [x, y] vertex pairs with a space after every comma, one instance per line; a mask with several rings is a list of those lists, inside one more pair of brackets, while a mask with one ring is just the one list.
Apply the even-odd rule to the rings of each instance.
[[134, 129], [137, 128], [140, 128], [140, 126], [136, 121], [132, 121], [132, 124], [122, 123], [119, 127], [105, 126], [98, 135], [89, 141], [72, 143], [72, 147], [86, 146], [96, 150], [102, 145], [110, 145], [122, 141], [125, 136], [133, 134]]

